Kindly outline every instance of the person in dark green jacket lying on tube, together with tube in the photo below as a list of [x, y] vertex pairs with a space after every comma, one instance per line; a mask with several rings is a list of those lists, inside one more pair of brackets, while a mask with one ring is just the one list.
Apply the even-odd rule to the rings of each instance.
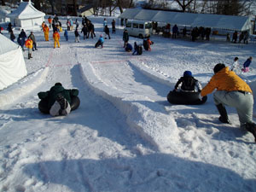
[[61, 83], [56, 83], [50, 90], [39, 92], [41, 101], [38, 108], [42, 113], [49, 113], [52, 116], [67, 115], [79, 108], [79, 90], [66, 90]]

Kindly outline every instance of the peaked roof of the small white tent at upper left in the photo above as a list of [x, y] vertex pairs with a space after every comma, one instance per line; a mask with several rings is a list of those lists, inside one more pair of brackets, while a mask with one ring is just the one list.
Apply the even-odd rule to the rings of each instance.
[[15, 11], [6, 16], [10, 18], [30, 19], [42, 17], [44, 15], [45, 14], [43, 12], [34, 8], [31, 2], [21, 2], [19, 8], [15, 9]]

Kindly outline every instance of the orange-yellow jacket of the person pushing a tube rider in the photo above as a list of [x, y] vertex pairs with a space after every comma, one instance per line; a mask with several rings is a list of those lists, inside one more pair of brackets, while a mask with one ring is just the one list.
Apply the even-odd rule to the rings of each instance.
[[224, 67], [212, 76], [209, 83], [201, 90], [201, 96], [207, 96], [215, 89], [227, 91], [242, 90], [253, 93], [249, 85], [236, 75], [235, 72], [230, 71], [229, 67]]

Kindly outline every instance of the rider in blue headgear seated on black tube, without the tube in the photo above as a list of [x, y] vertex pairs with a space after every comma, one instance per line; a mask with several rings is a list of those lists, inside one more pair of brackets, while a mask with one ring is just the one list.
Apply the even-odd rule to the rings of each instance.
[[192, 76], [190, 71], [185, 71], [183, 77], [178, 79], [177, 84], [174, 86], [176, 91], [181, 84], [181, 90], [186, 92], [200, 92], [201, 84], [200, 82]]

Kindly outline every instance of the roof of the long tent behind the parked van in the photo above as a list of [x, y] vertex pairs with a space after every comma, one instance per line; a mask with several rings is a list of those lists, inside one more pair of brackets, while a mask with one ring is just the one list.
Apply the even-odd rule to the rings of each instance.
[[251, 24], [248, 17], [232, 15], [191, 14], [148, 9], [126, 9], [119, 18], [132, 20], [151, 20], [177, 24], [178, 26], [204, 26], [217, 29], [246, 31]]

